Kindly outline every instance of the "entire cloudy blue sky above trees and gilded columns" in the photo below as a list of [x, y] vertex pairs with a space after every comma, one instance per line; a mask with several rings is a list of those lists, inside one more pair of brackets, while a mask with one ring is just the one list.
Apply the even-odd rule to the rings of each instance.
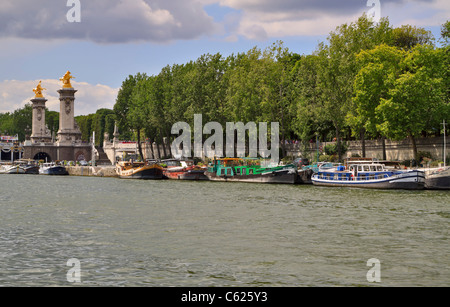
[[2, 0], [0, 113], [22, 108], [40, 80], [47, 107], [59, 111], [66, 71], [78, 90], [75, 115], [112, 109], [129, 75], [157, 75], [203, 54], [226, 57], [278, 40], [291, 52], [311, 54], [363, 13], [388, 17], [395, 27], [423, 27], [438, 39], [450, 1]]

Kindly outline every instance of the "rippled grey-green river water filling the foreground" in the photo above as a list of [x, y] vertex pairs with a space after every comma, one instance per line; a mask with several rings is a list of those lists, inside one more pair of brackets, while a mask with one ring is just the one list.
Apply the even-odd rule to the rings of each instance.
[[0, 175], [0, 214], [0, 286], [450, 285], [446, 191]]

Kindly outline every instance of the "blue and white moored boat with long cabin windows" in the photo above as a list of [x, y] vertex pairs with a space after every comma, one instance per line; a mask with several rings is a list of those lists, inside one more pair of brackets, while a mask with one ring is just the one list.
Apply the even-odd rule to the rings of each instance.
[[319, 169], [312, 176], [318, 186], [370, 189], [419, 190], [425, 187], [425, 173], [419, 170], [387, 169], [384, 164], [350, 164]]

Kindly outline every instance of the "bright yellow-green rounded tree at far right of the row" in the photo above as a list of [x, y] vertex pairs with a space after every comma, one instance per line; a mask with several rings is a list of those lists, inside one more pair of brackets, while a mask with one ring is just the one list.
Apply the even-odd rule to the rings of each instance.
[[445, 101], [444, 55], [443, 49], [430, 45], [417, 45], [405, 53], [400, 64], [402, 73], [388, 78], [388, 97], [381, 98], [376, 108], [379, 131], [394, 140], [409, 137], [416, 161], [415, 138], [450, 115]]

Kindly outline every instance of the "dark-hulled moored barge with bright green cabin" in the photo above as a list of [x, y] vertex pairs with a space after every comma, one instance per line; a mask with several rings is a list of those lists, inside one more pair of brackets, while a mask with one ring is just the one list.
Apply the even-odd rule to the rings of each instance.
[[294, 184], [298, 174], [293, 164], [263, 167], [257, 160], [223, 158], [214, 159], [205, 175], [212, 181]]

